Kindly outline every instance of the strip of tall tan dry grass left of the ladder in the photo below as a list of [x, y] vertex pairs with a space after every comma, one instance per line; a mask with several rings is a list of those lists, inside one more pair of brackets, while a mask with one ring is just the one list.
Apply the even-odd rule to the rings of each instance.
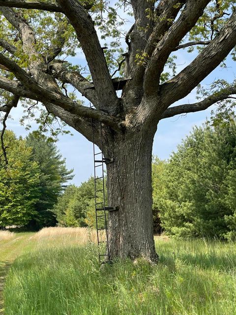
[[97, 233], [86, 227], [45, 227], [35, 234], [34, 239], [38, 242], [62, 241], [66, 244], [86, 245], [88, 242], [97, 242]]

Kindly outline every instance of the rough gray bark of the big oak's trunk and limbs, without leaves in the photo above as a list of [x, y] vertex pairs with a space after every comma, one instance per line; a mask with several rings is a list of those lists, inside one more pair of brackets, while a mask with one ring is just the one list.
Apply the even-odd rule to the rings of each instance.
[[[125, 75], [132, 79], [124, 84], [122, 95], [118, 97], [88, 11], [90, 6], [82, 5], [79, 0], [56, 2], [0, 0], [0, 13], [18, 34], [21, 48], [29, 58], [28, 67], [19, 66], [14, 58], [17, 48], [6, 38], [0, 38], [4, 50], [0, 53], [0, 89], [42, 102], [48, 112], [89, 141], [92, 140], [90, 119], [97, 126], [102, 123], [103, 149], [106, 157], [114, 160], [107, 165], [109, 203], [119, 207], [110, 214], [111, 258], [143, 256], [156, 261], [151, 213], [151, 151], [157, 124], [163, 118], [204, 110], [236, 93], [236, 87], [230, 86], [198, 103], [170, 107], [188, 95], [235, 47], [236, 11], [232, 10], [226, 25], [215, 37], [211, 35], [210, 40], [181, 43], [210, 0], [160, 0], [157, 7], [153, 6], [153, 1], [131, 0], [135, 22], [125, 38], [128, 45]], [[12, 8], [64, 13], [85, 54], [92, 84], [81, 73], [68, 70], [65, 63], [55, 59], [63, 49], [65, 39], [60, 36], [68, 25], [56, 31], [59, 40], [53, 53], [42, 55], [37, 51], [37, 36], [30, 23]], [[147, 14], [155, 18], [150, 19]], [[200, 44], [206, 46], [197, 58], [161, 84], [160, 76], [170, 54]], [[137, 55], [142, 54], [147, 58], [145, 66], [136, 61]], [[63, 94], [59, 84], [64, 83], [85, 95], [95, 109]], [[7, 113], [8, 108], [0, 106], [0, 111]]]

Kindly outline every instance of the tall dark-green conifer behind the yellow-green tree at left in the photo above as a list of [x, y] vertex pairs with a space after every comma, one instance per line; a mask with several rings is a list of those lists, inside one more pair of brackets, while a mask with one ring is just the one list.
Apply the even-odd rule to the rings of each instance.
[[29, 225], [31, 228], [56, 224], [51, 211], [63, 189], [64, 184], [71, 180], [73, 170], [67, 170], [65, 159], [61, 157], [56, 145], [45, 137], [29, 133], [26, 144], [32, 150], [31, 160], [38, 163], [41, 176], [39, 183], [40, 198], [35, 204], [37, 215]]

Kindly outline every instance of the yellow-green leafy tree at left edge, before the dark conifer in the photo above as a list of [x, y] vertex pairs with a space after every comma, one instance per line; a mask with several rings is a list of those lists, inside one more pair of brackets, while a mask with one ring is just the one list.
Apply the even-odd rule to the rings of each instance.
[[12, 131], [4, 135], [8, 166], [0, 158], [0, 225], [26, 225], [37, 216], [41, 172], [31, 160], [31, 149]]

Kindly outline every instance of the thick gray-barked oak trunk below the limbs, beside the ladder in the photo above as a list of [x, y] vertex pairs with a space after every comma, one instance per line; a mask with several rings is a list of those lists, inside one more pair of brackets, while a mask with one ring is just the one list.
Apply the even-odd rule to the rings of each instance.
[[155, 130], [127, 132], [106, 146], [109, 251], [114, 257], [144, 257], [156, 262], [153, 239], [151, 153]]

